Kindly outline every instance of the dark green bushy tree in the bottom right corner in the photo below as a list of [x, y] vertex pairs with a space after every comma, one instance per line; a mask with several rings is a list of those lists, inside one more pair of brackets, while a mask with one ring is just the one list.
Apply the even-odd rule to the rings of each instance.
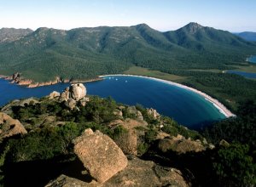
[[256, 184], [256, 164], [249, 156], [247, 144], [221, 147], [213, 162], [213, 169], [221, 184], [226, 186], [253, 186]]

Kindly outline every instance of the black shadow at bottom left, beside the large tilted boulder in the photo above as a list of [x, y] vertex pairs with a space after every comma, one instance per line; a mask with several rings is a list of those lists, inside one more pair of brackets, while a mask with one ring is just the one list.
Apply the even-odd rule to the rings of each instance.
[[4, 173], [4, 186], [45, 186], [61, 174], [84, 182], [92, 180], [88, 173], [82, 174], [85, 169], [79, 159], [63, 162], [57, 160], [7, 163], [1, 168]]

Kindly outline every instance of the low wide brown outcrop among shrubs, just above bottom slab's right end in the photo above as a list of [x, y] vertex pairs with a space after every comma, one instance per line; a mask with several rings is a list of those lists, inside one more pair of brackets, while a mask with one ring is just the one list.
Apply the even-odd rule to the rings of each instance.
[[200, 152], [206, 150], [206, 147], [198, 140], [185, 139], [182, 135], [177, 137], [160, 139], [158, 147], [161, 151], [166, 152], [167, 150], [175, 151], [179, 154], [186, 153], [189, 151]]

